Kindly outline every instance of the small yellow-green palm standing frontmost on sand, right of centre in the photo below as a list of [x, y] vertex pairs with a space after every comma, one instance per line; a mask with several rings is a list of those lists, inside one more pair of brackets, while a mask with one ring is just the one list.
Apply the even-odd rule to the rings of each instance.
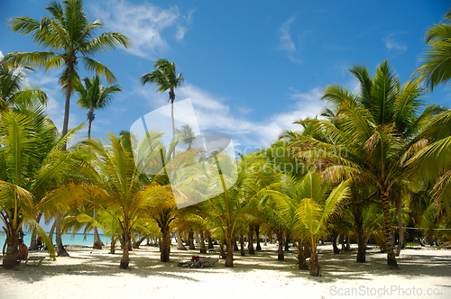
[[[320, 276], [318, 264], [318, 241], [324, 238], [327, 222], [340, 212], [343, 201], [349, 196], [348, 181], [331, 190], [321, 183], [318, 173], [309, 172], [300, 181], [287, 177], [288, 184], [278, 184], [275, 190], [266, 190], [278, 201], [282, 214], [293, 222], [295, 238], [308, 240], [310, 245], [310, 276]], [[290, 216], [292, 215], [292, 216]]]

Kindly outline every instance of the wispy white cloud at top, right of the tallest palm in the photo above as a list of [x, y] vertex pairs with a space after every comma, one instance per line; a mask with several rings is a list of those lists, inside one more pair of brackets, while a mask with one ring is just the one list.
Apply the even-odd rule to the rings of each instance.
[[169, 48], [163, 36], [166, 31], [172, 31], [177, 41], [183, 40], [195, 12], [190, 10], [184, 16], [180, 15], [177, 6], [162, 9], [149, 3], [135, 5], [124, 0], [96, 2], [91, 9], [96, 17], [102, 19], [108, 31], [121, 32], [132, 39], [130, 53], [146, 59], [155, 59]]

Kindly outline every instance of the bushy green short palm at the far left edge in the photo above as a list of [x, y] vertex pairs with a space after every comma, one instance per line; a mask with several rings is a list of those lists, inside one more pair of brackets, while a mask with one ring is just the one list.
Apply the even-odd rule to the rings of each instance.
[[60, 140], [45, 115], [39, 111], [34, 115], [37, 116], [32, 118], [9, 110], [0, 118], [0, 218], [5, 224], [8, 246], [5, 268], [16, 265], [24, 224], [38, 231], [54, 257], [51, 240], [34, 217], [42, 212], [54, 215], [67, 210], [69, 201], [49, 199], [47, 194], [61, 183], [70, 184], [76, 177], [73, 174], [82, 177], [79, 152], [60, 151], [72, 133]]

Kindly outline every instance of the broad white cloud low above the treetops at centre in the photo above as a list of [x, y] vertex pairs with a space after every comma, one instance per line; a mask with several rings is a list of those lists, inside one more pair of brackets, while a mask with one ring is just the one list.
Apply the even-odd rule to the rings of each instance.
[[[321, 89], [314, 88], [306, 93], [290, 90], [293, 104], [286, 112], [274, 113], [264, 120], [250, 121], [249, 117], [240, 113], [240, 108], [233, 108], [217, 95], [207, 90], [186, 84], [177, 92], [179, 100], [190, 98], [195, 109], [198, 126], [201, 131], [221, 131], [234, 138], [234, 143], [257, 148], [269, 146], [277, 140], [282, 130], [299, 130], [300, 126], [293, 122], [306, 117], [315, 117], [321, 112], [325, 103], [318, 100]], [[156, 95], [155, 95], [156, 96]], [[165, 98], [157, 96], [161, 105], [167, 104]], [[153, 108], [153, 105], [152, 105]]]

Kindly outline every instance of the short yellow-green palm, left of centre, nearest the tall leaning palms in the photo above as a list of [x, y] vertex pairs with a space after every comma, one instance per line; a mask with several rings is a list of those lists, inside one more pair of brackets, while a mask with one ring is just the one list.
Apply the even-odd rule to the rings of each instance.
[[[151, 183], [137, 169], [133, 153], [125, 150], [122, 140], [109, 133], [107, 145], [99, 140], [87, 140], [87, 149], [95, 153], [92, 160], [97, 179], [91, 184], [102, 190], [103, 195], [88, 197], [87, 203], [109, 213], [122, 232], [124, 248], [120, 267], [128, 268], [131, 232], [139, 220], [147, 217], [157, 203], [170, 201], [173, 195], [170, 186]], [[113, 207], [113, 209], [112, 209]]]

